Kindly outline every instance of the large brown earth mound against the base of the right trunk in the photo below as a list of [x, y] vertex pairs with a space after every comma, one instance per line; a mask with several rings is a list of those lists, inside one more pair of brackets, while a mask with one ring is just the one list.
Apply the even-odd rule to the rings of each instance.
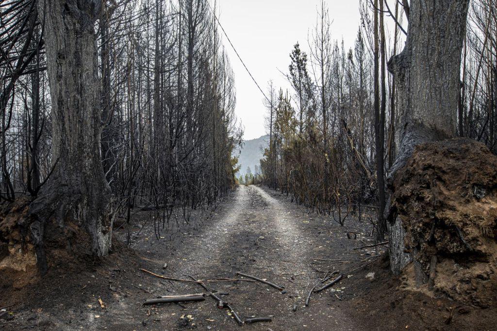
[[416, 278], [458, 301], [495, 304], [497, 156], [466, 138], [422, 144], [394, 189]]

